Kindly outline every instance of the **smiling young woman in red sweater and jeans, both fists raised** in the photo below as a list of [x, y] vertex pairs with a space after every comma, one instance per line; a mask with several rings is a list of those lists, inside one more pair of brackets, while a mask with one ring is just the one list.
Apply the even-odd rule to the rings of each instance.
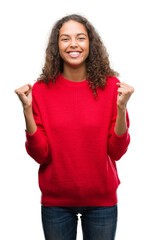
[[127, 102], [94, 27], [69, 15], [52, 29], [42, 74], [18, 94], [26, 120], [26, 150], [40, 164], [46, 240], [113, 240], [117, 223], [116, 160], [130, 136]]

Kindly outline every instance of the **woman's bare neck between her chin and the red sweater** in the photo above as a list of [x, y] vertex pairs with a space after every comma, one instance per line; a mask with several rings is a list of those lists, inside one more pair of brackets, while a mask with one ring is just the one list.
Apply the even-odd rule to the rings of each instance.
[[64, 64], [64, 71], [62, 73], [63, 77], [73, 81], [73, 82], [82, 82], [86, 80], [87, 73], [86, 73], [86, 66], [80, 66], [77, 68], [72, 68], [70, 66], [66, 66]]

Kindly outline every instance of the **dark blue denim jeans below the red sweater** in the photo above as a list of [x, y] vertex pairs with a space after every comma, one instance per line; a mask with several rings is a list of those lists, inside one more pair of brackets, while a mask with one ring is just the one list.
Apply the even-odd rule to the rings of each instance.
[[112, 207], [42, 206], [45, 239], [76, 240], [78, 213], [81, 214], [83, 240], [114, 240], [117, 205]]

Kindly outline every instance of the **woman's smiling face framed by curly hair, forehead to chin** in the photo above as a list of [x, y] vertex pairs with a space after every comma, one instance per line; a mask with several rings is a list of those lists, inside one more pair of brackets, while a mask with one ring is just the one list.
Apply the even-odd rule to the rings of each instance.
[[63, 24], [59, 32], [59, 53], [71, 67], [85, 65], [89, 54], [89, 38], [83, 24], [70, 20]]

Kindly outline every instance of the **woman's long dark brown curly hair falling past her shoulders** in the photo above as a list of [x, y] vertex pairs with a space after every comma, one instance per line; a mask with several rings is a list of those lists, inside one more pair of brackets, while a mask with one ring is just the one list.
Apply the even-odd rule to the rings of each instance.
[[49, 81], [55, 83], [56, 77], [59, 73], [63, 72], [63, 60], [59, 54], [58, 39], [62, 25], [69, 20], [83, 24], [87, 30], [89, 36], [89, 55], [86, 59], [86, 71], [89, 86], [93, 89], [93, 94], [96, 99], [96, 89], [98, 87], [105, 87], [107, 76], [112, 77], [118, 76], [119, 74], [111, 69], [109, 55], [95, 28], [85, 17], [77, 14], [65, 16], [55, 23], [46, 49], [45, 64], [37, 81], [43, 80], [47, 84]]

